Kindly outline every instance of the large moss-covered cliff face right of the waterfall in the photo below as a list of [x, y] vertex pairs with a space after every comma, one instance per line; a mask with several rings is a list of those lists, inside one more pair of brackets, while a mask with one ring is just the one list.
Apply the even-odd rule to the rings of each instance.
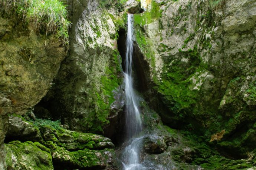
[[153, 0], [135, 14], [137, 72], [148, 76], [145, 95], [167, 125], [247, 157], [255, 149], [256, 1], [218, 2]]

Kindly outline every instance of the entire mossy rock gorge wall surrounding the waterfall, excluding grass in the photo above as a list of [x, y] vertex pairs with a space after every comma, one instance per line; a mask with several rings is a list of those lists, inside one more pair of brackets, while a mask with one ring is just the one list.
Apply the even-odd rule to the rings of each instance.
[[69, 45], [0, 13], [0, 169], [122, 168], [126, 11], [146, 164], [255, 169], [256, 0], [66, 4]]

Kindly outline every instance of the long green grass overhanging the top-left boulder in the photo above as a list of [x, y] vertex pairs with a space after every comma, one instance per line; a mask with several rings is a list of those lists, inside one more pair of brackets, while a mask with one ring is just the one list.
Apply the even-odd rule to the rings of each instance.
[[0, 0], [0, 10], [7, 14], [15, 13], [35, 31], [68, 37], [70, 22], [66, 6], [59, 0]]

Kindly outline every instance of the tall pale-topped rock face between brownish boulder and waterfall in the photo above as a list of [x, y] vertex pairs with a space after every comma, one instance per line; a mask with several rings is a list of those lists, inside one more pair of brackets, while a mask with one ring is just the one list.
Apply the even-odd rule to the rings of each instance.
[[112, 91], [122, 83], [118, 34], [111, 14], [96, 1], [79, 7], [77, 3], [72, 7], [76, 16], [72, 16], [69, 55], [45, 101], [70, 129], [103, 133], [115, 101]]

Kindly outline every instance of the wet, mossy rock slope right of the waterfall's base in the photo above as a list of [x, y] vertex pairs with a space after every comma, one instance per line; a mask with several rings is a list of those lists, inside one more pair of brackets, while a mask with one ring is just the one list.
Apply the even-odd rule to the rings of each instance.
[[204, 137], [164, 126], [160, 116], [140, 98], [144, 122], [140, 160], [149, 170], [248, 169], [255, 164], [255, 153], [249, 159], [232, 160], [204, 141]]

